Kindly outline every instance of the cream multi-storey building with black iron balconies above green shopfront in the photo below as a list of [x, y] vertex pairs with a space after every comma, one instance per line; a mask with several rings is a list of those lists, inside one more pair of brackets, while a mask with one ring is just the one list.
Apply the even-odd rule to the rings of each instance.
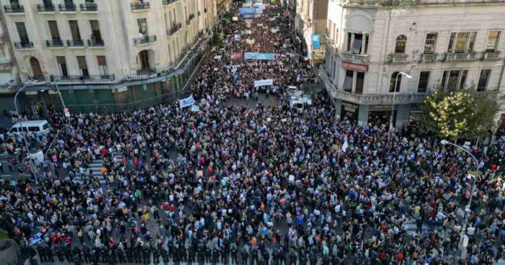
[[[169, 73], [186, 64], [217, 15], [214, 0], [0, 1], [21, 82], [35, 79], [39, 90], [58, 84], [70, 93], [109, 89], [112, 103], [179, 86]], [[111, 94], [118, 91], [127, 95]], [[100, 97], [82, 94], [64, 97]]]

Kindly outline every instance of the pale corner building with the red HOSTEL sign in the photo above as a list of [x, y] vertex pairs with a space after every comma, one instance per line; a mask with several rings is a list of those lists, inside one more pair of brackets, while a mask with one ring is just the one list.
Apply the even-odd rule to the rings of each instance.
[[319, 73], [340, 118], [387, 124], [392, 115], [402, 128], [439, 86], [496, 94], [505, 113], [505, 3], [390, 4], [329, 2], [326, 63]]

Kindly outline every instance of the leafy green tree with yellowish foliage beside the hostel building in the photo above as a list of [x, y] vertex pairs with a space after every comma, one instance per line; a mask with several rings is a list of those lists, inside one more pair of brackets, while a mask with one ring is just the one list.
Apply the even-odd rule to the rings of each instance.
[[494, 125], [498, 104], [489, 94], [465, 89], [439, 87], [427, 95], [417, 117], [419, 129], [443, 138], [484, 136]]

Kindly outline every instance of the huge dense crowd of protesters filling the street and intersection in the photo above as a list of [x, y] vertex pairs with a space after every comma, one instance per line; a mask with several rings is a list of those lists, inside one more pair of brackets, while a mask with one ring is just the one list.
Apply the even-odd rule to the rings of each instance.
[[[48, 118], [70, 130], [47, 143], [37, 183], [0, 182], [0, 225], [23, 256], [76, 264], [447, 264], [456, 256], [490, 264], [502, 257], [505, 145], [470, 147], [481, 169], [473, 177], [467, 153], [339, 120], [324, 97], [291, 110], [282, 98], [287, 86], [315, 74], [283, 10], [266, 6], [261, 17], [225, 25], [227, 43], [205, 59], [188, 91], [199, 112], [174, 102]], [[231, 52], [246, 51], [276, 58], [231, 60]], [[258, 90], [254, 81], [263, 79], [274, 85]], [[258, 93], [275, 100], [256, 104]], [[229, 103], [244, 94], [251, 108]], [[0, 140], [14, 170], [30, 175], [21, 139]], [[89, 169], [98, 158], [105, 184]]]

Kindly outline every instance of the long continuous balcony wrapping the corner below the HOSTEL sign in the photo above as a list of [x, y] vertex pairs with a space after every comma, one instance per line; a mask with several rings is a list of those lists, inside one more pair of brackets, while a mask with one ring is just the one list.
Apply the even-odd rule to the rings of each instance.
[[[326, 91], [333, 98], [350, 101], [358, 104], [392, 104], [393, 94], [356, 94], [337, 89], [330, 81], [323, 65], [319, 67], [319, 78], [321, 84], [326, 87]], [[396, 93], [395, 104], [421, 103], [426, 96], [425, 93]]]

